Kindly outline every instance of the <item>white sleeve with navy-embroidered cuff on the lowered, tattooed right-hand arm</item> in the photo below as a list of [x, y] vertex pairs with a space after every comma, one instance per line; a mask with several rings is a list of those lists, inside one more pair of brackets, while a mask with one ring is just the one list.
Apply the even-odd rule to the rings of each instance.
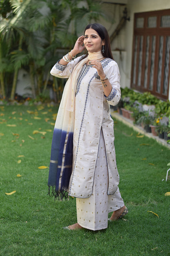
[[120, 86], [120, 73], [118, 64], [115, 61], [109, 63], [105, 74], [107, 75], [110, 84], [112, 85], [112, 91], [108, 97], [105, 96], [107, 102], [110, 105], [117, 105], [121, 98], [121, 86]]

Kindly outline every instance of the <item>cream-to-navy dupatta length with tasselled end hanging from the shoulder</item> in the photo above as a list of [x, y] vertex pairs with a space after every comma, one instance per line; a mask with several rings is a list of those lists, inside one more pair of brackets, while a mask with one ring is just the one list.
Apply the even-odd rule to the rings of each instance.
[[[65, 84], [60, 102], [51, 144], [51, 159], [49, 165], [49, 195], [58, 199], [67, 199], [69, 180], [72, 174], [74, 106], [76, 78], [87, 58], [74, 67]], [[50, 191], [50, 188], [52, 190]]]

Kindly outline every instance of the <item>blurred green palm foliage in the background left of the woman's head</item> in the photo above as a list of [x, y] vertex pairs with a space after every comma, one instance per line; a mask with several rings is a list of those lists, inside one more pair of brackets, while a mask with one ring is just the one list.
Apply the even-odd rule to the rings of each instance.
[[[6, 64], [0, 67], [0, 81], [5, 95], [4, 77], [8, 64], [8, 71], [13, 71], [11, 99], [15, 96], [18, 70], [25, 66], [29, 68], [33, 98], [37, 93], [45, 93], [49, 71], [56, 59], [71, 50], [82, 27], [104, 17], [100, 5], [91, 0], [84, 0], [85, 5], [81, 8], [78, 7], [81, 0], [2, 1], [10, 5], [7, 5], [8, 18], [0, 13], [0, 63], [6, 58]], [[4, 46], [8, 46], [6, 51], [2, 49]], [[53, 78], [58, 99], [61, 87], [58, 79]]]

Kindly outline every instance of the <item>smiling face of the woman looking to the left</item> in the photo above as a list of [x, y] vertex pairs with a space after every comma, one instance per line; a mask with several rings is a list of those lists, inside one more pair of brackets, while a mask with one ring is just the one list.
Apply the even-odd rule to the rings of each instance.
[[102, 41], [96, 30], [89, 28], [85, 31], [84, 45], [88, 52], [94, 53], [101, 50], [104, 40]]

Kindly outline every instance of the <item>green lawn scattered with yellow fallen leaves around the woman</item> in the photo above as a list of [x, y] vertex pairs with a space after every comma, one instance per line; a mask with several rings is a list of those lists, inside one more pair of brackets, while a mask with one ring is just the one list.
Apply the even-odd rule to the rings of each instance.
[[49, 167], [56, 113], [52, 106], [0, 107], [0, 256], [170, 255], [170, 150], [121, 121], [115, 149], [128, 215], [103, 231], [63, 229], [76, 222], [76, 199], [47, 196], [49, 168], [38, 169]]

